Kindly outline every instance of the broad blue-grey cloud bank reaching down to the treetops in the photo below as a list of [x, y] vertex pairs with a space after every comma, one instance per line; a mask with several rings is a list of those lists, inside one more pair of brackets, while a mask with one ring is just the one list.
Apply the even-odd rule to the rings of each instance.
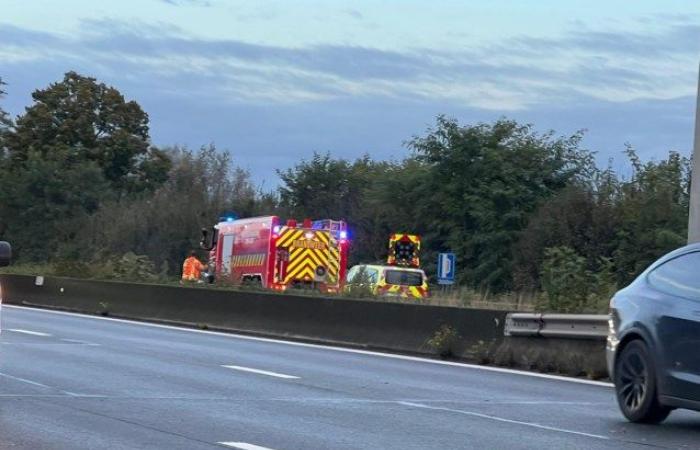
[[[164, 23], [85, 21], [65, 35], [0, 23], [5, 109], [77, 70], [141, 103], [157, 144], [216, 141], [258, 179], [312, 151], [401, 157], [440, 113], [508, 115], [541, 129], [589, 129], [602, 159], [687, 150], [700, 31], [682, 17], [629, 30], [520, 36], [460, 50], [283, 47], [203, 39]], [[262, 155], [262, 156], [261, 156]], [[267, 174], [267, 175], [262, 175]]]

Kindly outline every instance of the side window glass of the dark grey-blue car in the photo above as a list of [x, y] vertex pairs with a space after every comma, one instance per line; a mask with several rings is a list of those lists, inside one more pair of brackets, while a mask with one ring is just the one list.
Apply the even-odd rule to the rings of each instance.
[[649, 273], [649, 283], [666, 294], [700, 301], [700, 252], [686, 253]]

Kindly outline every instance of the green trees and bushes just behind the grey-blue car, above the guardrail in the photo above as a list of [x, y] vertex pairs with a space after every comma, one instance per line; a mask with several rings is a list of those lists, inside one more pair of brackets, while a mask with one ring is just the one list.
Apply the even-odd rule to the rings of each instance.
[[690, 162], [677, 153], [642, 164], [628, 147], [630, 179], [595, 171], [545, 200], [515, 246], [516, 289], [536, 290], [545, 249], [569, 247], [597, 270], [610, 261], [615, 282], [629, 283], [659, 256], [685, 244]]

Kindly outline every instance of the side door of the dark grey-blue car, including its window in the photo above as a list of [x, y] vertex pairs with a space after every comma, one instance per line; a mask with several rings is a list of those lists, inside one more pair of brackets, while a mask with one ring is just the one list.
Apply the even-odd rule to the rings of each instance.
[[647, 281], [661, 294], [653, 305], [660, 388], [664, 395], [700, 401], [700, 252], [665, 262]]

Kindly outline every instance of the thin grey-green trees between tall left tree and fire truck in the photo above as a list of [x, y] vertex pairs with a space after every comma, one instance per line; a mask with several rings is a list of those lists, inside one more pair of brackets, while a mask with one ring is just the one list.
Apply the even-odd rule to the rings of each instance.
[[213, 145], [163, 152], [172, 161], [163, 185], [142, 196], [114, 199], [83, 221], [81, 258], [107, 260], [132, 252], [172, 275], [198, 248], [200, 230], [216, 224], [222, 213], [274, 213], [274, 198], [256, 190], [250, 174], [232, 164], [230, 153]]

